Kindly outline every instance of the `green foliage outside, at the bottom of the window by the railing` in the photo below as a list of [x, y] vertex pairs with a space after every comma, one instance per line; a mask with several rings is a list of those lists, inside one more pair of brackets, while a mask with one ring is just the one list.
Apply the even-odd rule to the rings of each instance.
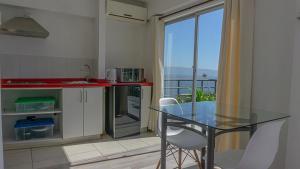
[[[186, 103], [192, 101], [192, 95], [191, 94], [184, 94], [184, 95], [178, 95], [177, 100], [179, 103]], [[201, 88], [196, 89], [196, 101], [215, 101], [216, 100], [216, 94], [213, 93], [205, 93]]]

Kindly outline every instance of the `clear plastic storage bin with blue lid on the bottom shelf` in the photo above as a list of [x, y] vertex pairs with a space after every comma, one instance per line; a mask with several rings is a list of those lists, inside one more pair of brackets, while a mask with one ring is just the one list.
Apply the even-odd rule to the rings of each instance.
[[16, 140], [53, 137], [52, 118], [18, 120], [15, 124]]

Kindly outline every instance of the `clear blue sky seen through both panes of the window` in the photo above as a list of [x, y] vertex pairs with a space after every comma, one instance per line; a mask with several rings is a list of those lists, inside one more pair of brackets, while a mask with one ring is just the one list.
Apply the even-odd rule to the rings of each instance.
[[[199, 16], [198, 68], [217, 70], [221, 44], [223, 9]], [[195, 18], [165, 26], [165, 67], [192, 68]]]

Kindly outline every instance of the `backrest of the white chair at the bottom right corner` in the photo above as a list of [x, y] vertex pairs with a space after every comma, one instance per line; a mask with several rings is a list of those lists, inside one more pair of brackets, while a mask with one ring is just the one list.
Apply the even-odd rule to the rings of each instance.
[[250, 139], [237, 169], [268, 169], [277, 154], [284, 122], [269, 122], [258, 128]]

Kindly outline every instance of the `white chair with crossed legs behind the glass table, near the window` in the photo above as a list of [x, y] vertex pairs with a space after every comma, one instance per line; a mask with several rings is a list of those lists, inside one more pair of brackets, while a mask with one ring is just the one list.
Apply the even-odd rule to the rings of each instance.
[[[178, 113], [183, 113], [181, 106], [178, 101], [174, 98], [161, 98], [159, 101], [160, 108], [163, 109], [164, 106], [168, 105], [177, 105], [174, 106], [174, 111], [178, 111]], [[159, 113], [158, 117], [158, 135], [161, 136], [161, 113]], [[170, 120], [169, 120], [170, 121]], [[178, 164], [178, 168], [182, 168], [182, 164], [187, 156], [193, 158], [200, 169], [204, 169], [204, 160], [205, 155], [205, 147], [207, 145], [206, 137], [183, 128], [178, 127], [167, 127], [167, 145], [169, 152], [167, 156], [174, 155], [174, 153], [178, 152], [178, 160], [175, 161]], [[199, 158], [197, 154], [197, 150], [201, 152], [201, 157]], [[190, 153], [193, 151], [193, 154]], [[182, 158], [182, 153], [185, 153], [185, 157]], [[160, 161], [157, 164], [157, 169], [160, 167]]]

